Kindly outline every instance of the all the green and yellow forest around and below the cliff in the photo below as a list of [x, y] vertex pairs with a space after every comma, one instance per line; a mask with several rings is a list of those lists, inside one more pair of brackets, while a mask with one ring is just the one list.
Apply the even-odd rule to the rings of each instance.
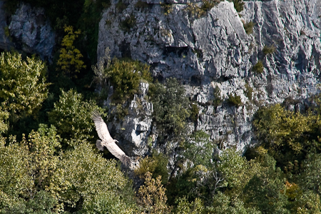
[[[6, 12], [19, 2], [5, 1]], [[188, 130], [200, 111], [180, 79], [158, 80], [151, 65], [111, 58], [108, 49], [96, 60], [98, 21], [109, 1], [24, 2], [44, 7], [57, 45], [51, 62], [1, 50], [0, 213], [321, 212], [319, 94], [305, 109], [289, 108], [297, 102], [291, 99], [261, 105], [251, 121], [255, 143], [244, 152], [225, 148], [206, 130]], [[218, 2], [202, 1], [198, 9]], [[243, 9], [242, 1], [233, 3]], [[137, 7], [148, 4], [137, 1]], [[158, 145], [148, 142], [146, 156], [136, 157], [138, 167], [128, 169], [96, 148], [91, 112], [98, 110], [106, 122], [122, 121], [140, 83], [148, 83], [145, 99], [153, 103], [160, 137]], [[246, 92], [252, 98], [252, 88]], [[236, 94], [216, 94], [212, 103], [244, 105]], [[177, 156], [170, 159], [173, 142]], [[168, 149], [156, 149], [161, 146]]]

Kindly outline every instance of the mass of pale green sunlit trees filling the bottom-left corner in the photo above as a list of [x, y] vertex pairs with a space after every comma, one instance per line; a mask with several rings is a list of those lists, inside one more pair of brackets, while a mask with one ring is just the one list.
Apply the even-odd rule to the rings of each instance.
[[0, 145], [0, 213], [133, 213], [128, 179], [80, 141], [63, 152], [56, 128], [40, 125], [21, 142]]

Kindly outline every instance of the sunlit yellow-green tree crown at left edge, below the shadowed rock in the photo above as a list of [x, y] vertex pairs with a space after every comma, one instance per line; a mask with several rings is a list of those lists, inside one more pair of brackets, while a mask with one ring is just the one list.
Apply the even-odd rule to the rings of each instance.
[[41, 108], [47, 98], [46, 65], [36, 57], [21, 58], [16, 52], [0, 56], [0, 102], [15, 120]]

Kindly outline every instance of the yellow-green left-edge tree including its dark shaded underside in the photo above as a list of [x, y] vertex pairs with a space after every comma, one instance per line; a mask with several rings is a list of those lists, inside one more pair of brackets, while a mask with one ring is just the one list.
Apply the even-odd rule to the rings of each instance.
[[[16, 52], [0, 55], [0, 132], [5, 136], [29, 133], [38, 124], [50, 83], [46, 63], [35, 56], [22, 58]], [[19, 126], [19, 128], [16, 128]]]

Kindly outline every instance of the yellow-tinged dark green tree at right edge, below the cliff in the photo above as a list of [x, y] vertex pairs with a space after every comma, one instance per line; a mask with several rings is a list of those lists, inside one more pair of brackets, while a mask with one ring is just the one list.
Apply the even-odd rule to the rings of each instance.
[[320, 151], [318, 131], [320, 116], [312, 112], [287, 111], [276, 104], [263, 107], [255, 114], [253, 124], [263, 147], [278, 164], [302, 160], [308, 151]]

